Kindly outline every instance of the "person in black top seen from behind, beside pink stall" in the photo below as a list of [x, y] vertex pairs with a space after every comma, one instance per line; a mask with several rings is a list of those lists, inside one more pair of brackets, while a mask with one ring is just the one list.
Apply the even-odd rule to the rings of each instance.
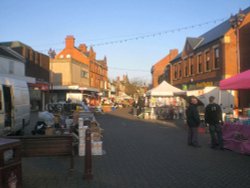
[[211, 148], [216, 148], [218, 145], [223, 150], [223, 138], [221, 131], [222, 110], [221, 107], [214, 102], [215, 97], [209, 97], [209, 103], [205, 108], [205, 123], [209, 126], [211, 138]]

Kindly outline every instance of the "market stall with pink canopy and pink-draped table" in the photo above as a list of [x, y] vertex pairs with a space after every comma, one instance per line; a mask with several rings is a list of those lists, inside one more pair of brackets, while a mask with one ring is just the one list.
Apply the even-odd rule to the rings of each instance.
[[[222, 90], [249, 90], [250, 70], [220, 82]], [[222, 127], [224, 148], [250, 154], [250, 108], [243, 109], [239, 117], [227, 114]]]

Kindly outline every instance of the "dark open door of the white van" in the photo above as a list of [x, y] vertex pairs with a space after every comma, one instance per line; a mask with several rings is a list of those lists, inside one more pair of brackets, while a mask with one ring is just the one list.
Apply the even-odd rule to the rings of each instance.
[[4, 127], [11, 127], [12, 125], [12, 97], [11, 97], [11, 87], [3, 85], [3, 100], [4, 100]]

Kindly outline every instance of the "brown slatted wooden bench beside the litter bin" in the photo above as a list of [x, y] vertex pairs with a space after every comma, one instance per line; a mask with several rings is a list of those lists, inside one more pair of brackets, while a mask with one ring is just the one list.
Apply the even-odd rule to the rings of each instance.
[[70, 171], [74, 169], [74, 145], [72, 135], [58, 136], [9, 136], [22, 143], [22, 157], [70, 156]]

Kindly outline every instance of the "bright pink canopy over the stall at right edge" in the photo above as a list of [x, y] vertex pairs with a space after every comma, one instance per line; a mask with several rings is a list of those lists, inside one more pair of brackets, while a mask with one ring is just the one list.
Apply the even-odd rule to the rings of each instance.
[[220, 81], [221, 90], [250, 89], [250, 70]]

